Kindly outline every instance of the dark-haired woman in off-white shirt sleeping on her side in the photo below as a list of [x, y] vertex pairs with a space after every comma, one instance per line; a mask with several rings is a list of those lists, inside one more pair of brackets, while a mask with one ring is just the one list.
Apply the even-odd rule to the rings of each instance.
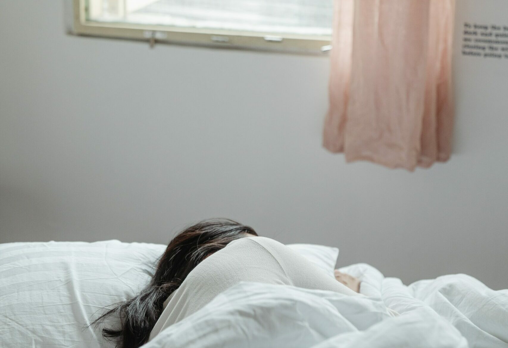
[[[227, 246], [227, 248], [226, 248]], [[115, 304], [92, 325], [120, 318], [102, 334], [118, 348], [137, 348], [193, 314], [238, 282], [284, 284], [358, 296], [360, 282], [335, 271], [335, 280], [291, 248], [260, 237], [228, 219], [204, 220], [174, 237], [150, 283], [136, 297]]]

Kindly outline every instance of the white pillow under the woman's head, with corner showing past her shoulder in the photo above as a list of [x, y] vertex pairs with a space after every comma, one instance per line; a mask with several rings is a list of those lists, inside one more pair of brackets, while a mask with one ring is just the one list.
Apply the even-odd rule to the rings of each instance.
[[[337, 248], [288, 246], [333, 276]], [[85, 326], [138, 294], [165, 249], [119, 240], [0, 244], [0, 347], [112, 348]]]

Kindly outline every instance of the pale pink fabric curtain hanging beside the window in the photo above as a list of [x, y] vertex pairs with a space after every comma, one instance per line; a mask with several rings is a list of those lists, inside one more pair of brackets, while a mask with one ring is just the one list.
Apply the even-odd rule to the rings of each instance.
[[324, 146], [415, 170], [451, 154], [455, 0], [335, 0]]

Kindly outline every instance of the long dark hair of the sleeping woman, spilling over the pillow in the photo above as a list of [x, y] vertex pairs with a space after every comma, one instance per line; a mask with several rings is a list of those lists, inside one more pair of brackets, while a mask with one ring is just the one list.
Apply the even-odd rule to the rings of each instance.
[[163, 311], [163, 303], [183, 280], [208, 255], [223, 249], [229, 242], [258, 235], [251, 227], [229, 219], [203, 220], [185, 228], [170, 242], [158, 260], [155, 274], [141, 293], [116, 303], [90, 325], [97, 327], [107, 317], [120, 319], [119, 328], [103, 328], [102, 335], [116, 342], [118, 348], [137, 348], [148, 341], [150, 331]]

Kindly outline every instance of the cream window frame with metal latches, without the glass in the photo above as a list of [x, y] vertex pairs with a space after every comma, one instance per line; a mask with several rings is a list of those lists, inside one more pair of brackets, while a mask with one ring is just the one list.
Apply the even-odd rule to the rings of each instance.
[[148, 42], [151, 47], [154, 44], [165, 43], [186, 46], [322, 54], [329, 50], [331, 42], [330, 36], [89, 21], [86, 18], [86, 6], [86, 0], [73, 0], [74, 34], [141, 40]]

